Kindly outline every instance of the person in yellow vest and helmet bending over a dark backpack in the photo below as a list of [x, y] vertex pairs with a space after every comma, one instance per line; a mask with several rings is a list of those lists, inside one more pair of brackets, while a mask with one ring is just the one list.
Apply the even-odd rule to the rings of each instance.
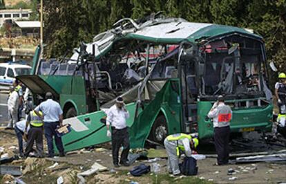
[[168, 154], [169, 174], [180, 175], [179, 157], [181, 153], [191, 157], [192, 149], [198, 146], [198, 138], [191, 138], [187, 134], [173, 134], [167, 136], [164, 140], [164, 146]]

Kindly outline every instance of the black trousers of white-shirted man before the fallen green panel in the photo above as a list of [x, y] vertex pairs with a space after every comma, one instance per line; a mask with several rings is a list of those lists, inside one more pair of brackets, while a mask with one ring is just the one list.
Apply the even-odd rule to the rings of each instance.
[[123, 150], [120, 157], [120, 163], [126, 163], [130, 149], [128, 128], [115, 129], [114, 127], [111, 127], [111, 131], [113, 164], [118, 164], [118, 154], [121, 146], [123, 147]]

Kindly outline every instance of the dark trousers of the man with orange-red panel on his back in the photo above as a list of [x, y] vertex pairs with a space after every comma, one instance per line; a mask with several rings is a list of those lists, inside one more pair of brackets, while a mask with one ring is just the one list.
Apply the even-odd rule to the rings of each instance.
[[229, 126], [214, 128], [214, 142], [216, 146], [216, 154], [218, 154], [218, 165], [229, 163], [229, 134]]

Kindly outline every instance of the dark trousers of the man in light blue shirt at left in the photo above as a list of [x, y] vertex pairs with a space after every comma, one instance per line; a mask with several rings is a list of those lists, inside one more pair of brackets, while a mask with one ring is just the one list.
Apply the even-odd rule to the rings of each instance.
[[61, 142], [61, 137], [57, 136], [55, 130], [59, 126], [59, 122], [44, 122], [45, 129], [45, 137], [48, 143], [48, 156], [54, 156], [54, 145], [53, 145], [53, 137], [55, 137], [55, 145], [59, 150], [60, 154], [64, 154], [63, 142]]

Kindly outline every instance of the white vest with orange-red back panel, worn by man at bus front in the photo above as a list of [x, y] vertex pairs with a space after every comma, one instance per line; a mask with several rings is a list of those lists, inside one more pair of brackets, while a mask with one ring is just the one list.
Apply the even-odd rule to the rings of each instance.
[[228, 105], [218, 107], [218, 127], [226, 127], [231, 120], [231, 109]]

